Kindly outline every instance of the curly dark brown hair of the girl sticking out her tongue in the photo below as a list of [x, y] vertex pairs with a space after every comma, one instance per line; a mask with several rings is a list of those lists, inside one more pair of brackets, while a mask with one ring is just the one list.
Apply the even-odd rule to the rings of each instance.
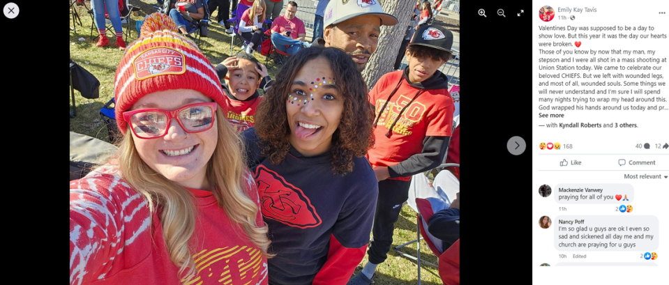
[[264, 95], [256, 111], [255, 131], [260, 137], [262, 155], [272, 164], [280, 164], [290, 148], [290, 126], [286, 113], [286, 100], [299, 70], [313, 59], [329, 62], [344, 98], [344, 110], [337, 130], [332, 134], [330, 148], [333, 174], [345, 175], [353, 171], [353, 157], [366, 155], [374, 145], [372, 122], [374, 110], [368, 101], [368, 89], [356, 64], [340, 49], [334, 47], [309, 47], [281, 67], [276, 82]]

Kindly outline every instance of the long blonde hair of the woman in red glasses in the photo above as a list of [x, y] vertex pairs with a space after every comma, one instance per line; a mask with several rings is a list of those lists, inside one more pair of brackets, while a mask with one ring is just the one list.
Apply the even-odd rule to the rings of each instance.
[[[267, 224], [257, 226], [255, 219], [258, 207], [245, 193], [248, 182], [243, 153], [243, 144], [239, 141], [227, 123], [221, 107], [216, 109], [218, 141], [216, 148], [206, 164], [206, 179], [212, 185], [213, 196], [218, 206], [225, 209], [225, 214], [233, 224], [240, 224], [248, 239], [267, 253], [270, 240], [267, 238]], [[190, 251], [191, 237], [195, 231], [197, 208], [193, 194], [153, 171], [137, 153], [133, 135], [126, 133], [119, 146], [119, 168], [123, 179], [137, 192], [144, 196], [149, 210], [154, 213], [156, 206], [161, 207], [160, 224], [163, 226], [163, 238], [167, 252], [174, 265], [179, 266], [179, 275], [185, 276], [182, 282], [197, 274], [193, 254]], [[233, 228], [235, 229], [235, 228]], [[238, 233], [239, 234], [239, 233]], [[185, 274], [184, 274], [185, 272]]]

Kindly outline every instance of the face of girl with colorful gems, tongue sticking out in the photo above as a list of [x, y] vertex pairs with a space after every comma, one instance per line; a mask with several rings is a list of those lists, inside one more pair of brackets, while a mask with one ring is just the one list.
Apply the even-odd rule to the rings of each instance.
[[286, 101], [288, 141], [299, 153], [320, 155], [329, 150], [339, 127], [344, 98], [335, 87], [326, 59], [308, 61], [297, 73]]

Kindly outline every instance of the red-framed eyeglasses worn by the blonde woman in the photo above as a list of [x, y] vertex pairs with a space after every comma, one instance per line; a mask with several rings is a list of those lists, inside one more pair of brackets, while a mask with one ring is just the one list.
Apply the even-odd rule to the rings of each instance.
[[123, 119], [137, 137], [142, 139], [158, 139], [165, 137], [170, 128], [172, 118], [176, 118], [186, 132], [204, 132], [213, 126], [216, 102], [195, 103], [176, 110], [140, 109], [124, 111]]

